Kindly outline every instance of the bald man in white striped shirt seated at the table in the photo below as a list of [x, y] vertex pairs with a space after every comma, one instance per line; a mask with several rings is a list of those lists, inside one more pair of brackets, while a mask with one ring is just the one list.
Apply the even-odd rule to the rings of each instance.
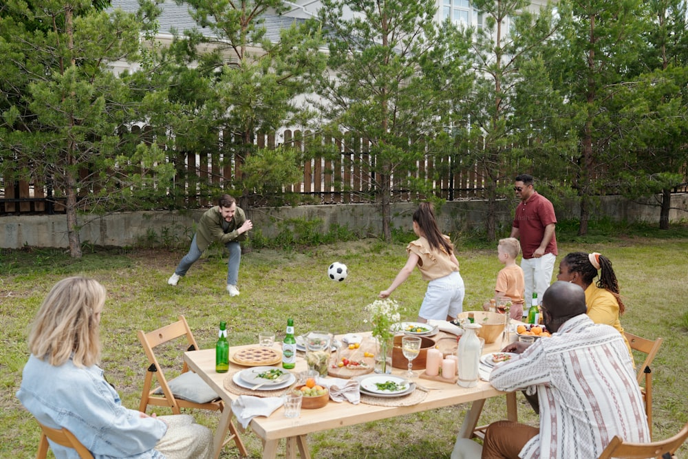
[[[540, 427], [491, 424], [482, 458], [597, 458], [614, 435], [649, 442], [643, 397], [623, 337], [585, 314], [585, 292], [557, 281], [542, 299], [550, 338], [513, 343], [490, 383], [513, 392], [537, 387]], [[530, 389], [531, 391], [533, 389]]]

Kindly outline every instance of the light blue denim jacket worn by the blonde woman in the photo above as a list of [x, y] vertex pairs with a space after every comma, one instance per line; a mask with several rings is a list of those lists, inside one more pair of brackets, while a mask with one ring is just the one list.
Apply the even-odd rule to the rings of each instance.
[[[76, 367], [69, 359], [54, 366], [32, 355], [17, 398], [42, 424], [71, 431], [96, 459], [165, 457], [153, 448], [167, 425], [123, 407], [96, 365]], [[74, 449], [53, 442], [50, 448], [57, 459], [78, 459]]]

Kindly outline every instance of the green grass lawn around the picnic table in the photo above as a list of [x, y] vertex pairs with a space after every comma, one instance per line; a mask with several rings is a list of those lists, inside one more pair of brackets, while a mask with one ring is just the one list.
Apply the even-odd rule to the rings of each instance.
[[[561, 238], [559, 259], [571, 251], [597, 251], [609, 257], [619, 277], [627, 312], [621, 321], [634, 334], [665, 339], [655, 359], [654, 438], [673, 435], [688, 420], [688, 237], [602, 238], [603, 242], [574, 242]], [[496, 247], [496, 244], [495, 244]], [[458, 246], [461, 274], [466, 284], [464, 310], [480, 309], [493, 294], [497, 271], [496, 248]], [[183, 253], [129, 250], [89, 253], [74, 261], [63, 250], [6, 251], [0, 257], [0, 457], [32, 458], [39, 429], [14, 396], [21, 369], [28, 358], [25, 338], [30, 321], [56, 281], [69, 275], [98, 279], [109, 292], [103, 311], [101, 336], [108, 380], [116, 385], [127, 407], [138, 407], [146, 358], [137, 330], [153, 330], [184, 314], [202, 348], [213, 346], [220, 320], [228, 322], [230, 345], [254, 343], [261, 330], [284, 334], [288, 317], [297, 334], [309, 330], [345, 333], [367, 330], [363, 308], [376, 299], [406, 260], [405, 244], [363, 239], [302, 250], [253, 250], [244, 255], [239, 275], [239, 297], [224, 290], [226, 259], [211, 250], [175, 288], [166, 279]], [[342, 261], [349, 277], [328, 280], [327, 266]], [[555, 268], [556, 272], [556, 268]], [[426, 283], [420, 273], [398, 288], [392, 297], [403, 308], [402, 319], [416, 318]], [[636, 358], [638, 361], [638, 358]], [[519, 416], [537, 424], [519, 394]], [[308, 442], [315, 458], [449, 458], [466, 405], [403, 416], [376, 423], [312, 434]], [[159, 414], [166, 414], [158, 410]], [[197, 414], [214, 428], [217, 414]], [[485, 405], [482, 423], [506, 416], [503, 398]], [[261, 443], [243, 436], [251, 457], [259, 458]], [[687, 456], [682, 447], [680, 457]], [[237, 457], [226, 447], [222, 458]]]

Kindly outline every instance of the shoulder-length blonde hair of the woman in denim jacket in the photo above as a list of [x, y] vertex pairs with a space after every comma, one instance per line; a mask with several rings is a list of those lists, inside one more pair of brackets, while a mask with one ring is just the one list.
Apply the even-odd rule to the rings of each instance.
[[77, 367], [95, 365], [100, 359], [98, 315], [105, 296], [105, 287], [87, 277], [67, 277], [55, 284], [34, 319], [31, 353], [55, 366], [72, 355]]

